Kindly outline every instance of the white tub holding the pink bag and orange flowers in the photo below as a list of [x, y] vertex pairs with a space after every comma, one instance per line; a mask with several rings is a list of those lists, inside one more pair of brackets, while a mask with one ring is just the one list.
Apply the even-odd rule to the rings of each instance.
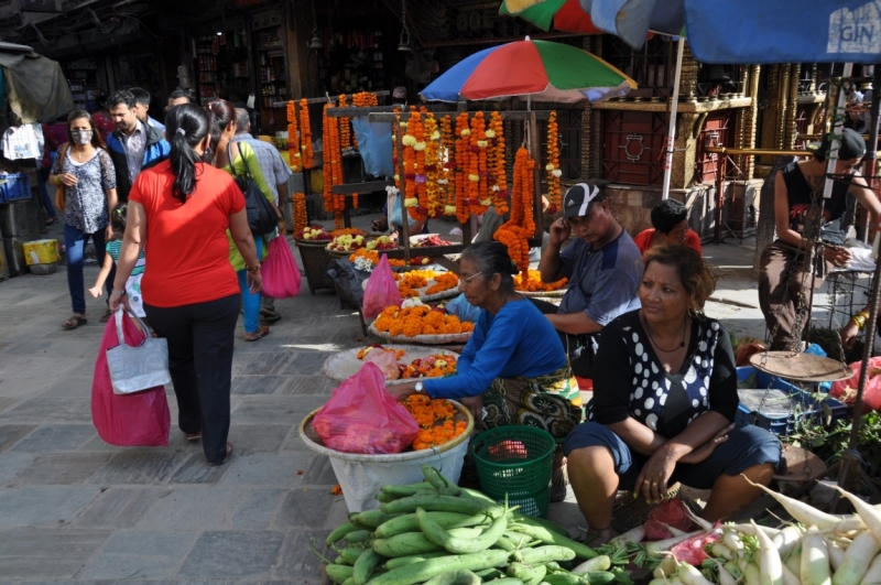
[[342, 488], [342, 496], [346, 498], [349, 511], [371, 510], [379, 508], [377, 494], [382, 486], [423, 481], [423, 465], [431, 465], [454, 484], [458, 483], [465, 454], [468, 451], [468, 438], [475, 427], [475, 420], [468, 409], [454, 400], [450, 402], [467, 416], [468, 427], [463, 434], [439, 447], [392, 455], [360, 455], [334, 451], [322, 445], [320, 440], [312, 430], [312, 419], [322, 409], [312, 411], [300, 423], [300, 438], [309, 449], [330, 458], [330, 466], [337, 476], [339, 487]]

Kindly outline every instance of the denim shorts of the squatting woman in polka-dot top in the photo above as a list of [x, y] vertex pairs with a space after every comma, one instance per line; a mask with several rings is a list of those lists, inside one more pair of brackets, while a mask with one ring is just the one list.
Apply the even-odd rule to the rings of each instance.
[[[597, 422], [576, 426], [566, 438], [563, 451], [568, 456], [577, 448], [592, 446], [603, 446], [611, 452], [614, 473], [619, 477], [618, 489], [633, 489], [649, 457], [631, 451], [613, 431]], [[772, 464], [776, 470], [781, 452], [780, 441], [772, 433], [752, 424], [738, 425], [728, 433], [728, 441], [717, 446], [705, 461], [695, 465], [676, 464], [668, 485], [682, 481], [695, 489], [711, 489], [722, 474], [736, 476], [763, 463]]]

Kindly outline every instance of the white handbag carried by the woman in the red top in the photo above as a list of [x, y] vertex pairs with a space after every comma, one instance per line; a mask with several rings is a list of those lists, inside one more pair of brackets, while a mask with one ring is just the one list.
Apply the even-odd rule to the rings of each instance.
[[151, 337], [146, 324], [138, 315], [131, 315], [146, 333], [146, 338], [137, 347], [126, 344], [126, 336], [122, 333], [124, 311], [120, 307], [113, 315], [119, 345], [107, 350], [107, 368], [110, 370], [113, 393], [131, 394], [171, 383], [168, 342], [161, 337]]

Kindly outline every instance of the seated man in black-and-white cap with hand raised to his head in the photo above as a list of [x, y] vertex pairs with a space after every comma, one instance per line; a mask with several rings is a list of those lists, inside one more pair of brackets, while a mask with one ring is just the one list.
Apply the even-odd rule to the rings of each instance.
[[[561, 252], [570, 234], [575, 241]], [[618, 315], [639, 308], [637, 288], [642, 278], [642, 254], [612, 217], [599, 187], [579, 183], [566, 192], [563, 217], [551, 224], [551, 241], [539, 270], [543, 282], [569, 279], [559, 307], [535, 304], [559, 334], [573, 372], [591, 378], [599, 332]]]

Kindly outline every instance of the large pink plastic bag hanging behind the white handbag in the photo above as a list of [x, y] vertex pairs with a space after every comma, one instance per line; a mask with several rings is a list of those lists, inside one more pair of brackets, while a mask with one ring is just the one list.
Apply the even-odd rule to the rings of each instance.
[[[122, 317], [126, 343], [137, 346], [144, 334], [128, 316]], [[172, 419], [165, 388], [160, 386], [134, 394], [115, 394], [107, 369], [107, 350], [119, 345], [113, 319], [104, 329], [98, 359], [95, 361], [95, 378], [91, 382], [91, 422], [98, 435], [111, 445], [120, 447], [165, 447]]]

